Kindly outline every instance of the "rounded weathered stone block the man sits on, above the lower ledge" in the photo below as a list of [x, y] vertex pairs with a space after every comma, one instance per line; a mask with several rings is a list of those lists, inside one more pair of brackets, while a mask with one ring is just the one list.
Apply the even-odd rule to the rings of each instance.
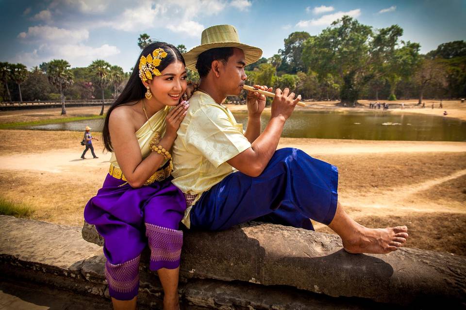
[[[84, 239], [96, 239], [95, 228], [86, 225]], [[336, 235], [253, 222], [223, 232], [185, 232], [180, 275], [403, 306], [466, 302], [465, 257], [417, 248], [349, 254]]]

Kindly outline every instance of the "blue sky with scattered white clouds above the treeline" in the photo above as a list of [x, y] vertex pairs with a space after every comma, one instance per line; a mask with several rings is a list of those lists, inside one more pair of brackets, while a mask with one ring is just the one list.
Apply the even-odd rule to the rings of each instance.
[[318, 35], [344, 15], [374, 29], [398, 24], [401, 39], [419, 43], [421, 53], [466, 40], [466, 0], [0, 0], [0, 61], [85, 67], [103, 59], [130, 71], [139, 34], [189, 50], [219, 24], [234, 25], [242, 43], [268, 58], [291, 32]]

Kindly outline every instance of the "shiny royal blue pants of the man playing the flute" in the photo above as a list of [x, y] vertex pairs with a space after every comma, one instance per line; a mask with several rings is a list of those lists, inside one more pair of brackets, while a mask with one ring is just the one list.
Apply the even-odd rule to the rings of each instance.
[[332, 221], [337, 187], [335, 166], [298, 149], [280, 149], [258, 177], [237, 171], [204, 192], [191, 210], [191, 228], [224, 230], [258, 220], [313, 230], [310, 218]]

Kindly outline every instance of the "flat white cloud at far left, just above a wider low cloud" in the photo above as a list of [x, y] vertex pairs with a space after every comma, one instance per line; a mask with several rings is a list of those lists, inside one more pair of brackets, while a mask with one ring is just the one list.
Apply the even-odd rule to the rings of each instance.
[[28, 32], [18, 34], [21, 39], [29, 41], [78, 43], [89, 38], [89, 31], [86, 29], [68, 30], [64, 28], [50, 26], [33, 26], [28, 28]]

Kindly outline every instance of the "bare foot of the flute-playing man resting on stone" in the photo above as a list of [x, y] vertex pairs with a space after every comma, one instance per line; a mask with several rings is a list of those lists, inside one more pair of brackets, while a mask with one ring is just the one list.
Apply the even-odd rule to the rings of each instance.
[[385, 254], [402, 247], [408, 238], [406, 226], [367, 228], [359, 225], [347, 239], [342, 238], [343, 248], [349, 253]]

